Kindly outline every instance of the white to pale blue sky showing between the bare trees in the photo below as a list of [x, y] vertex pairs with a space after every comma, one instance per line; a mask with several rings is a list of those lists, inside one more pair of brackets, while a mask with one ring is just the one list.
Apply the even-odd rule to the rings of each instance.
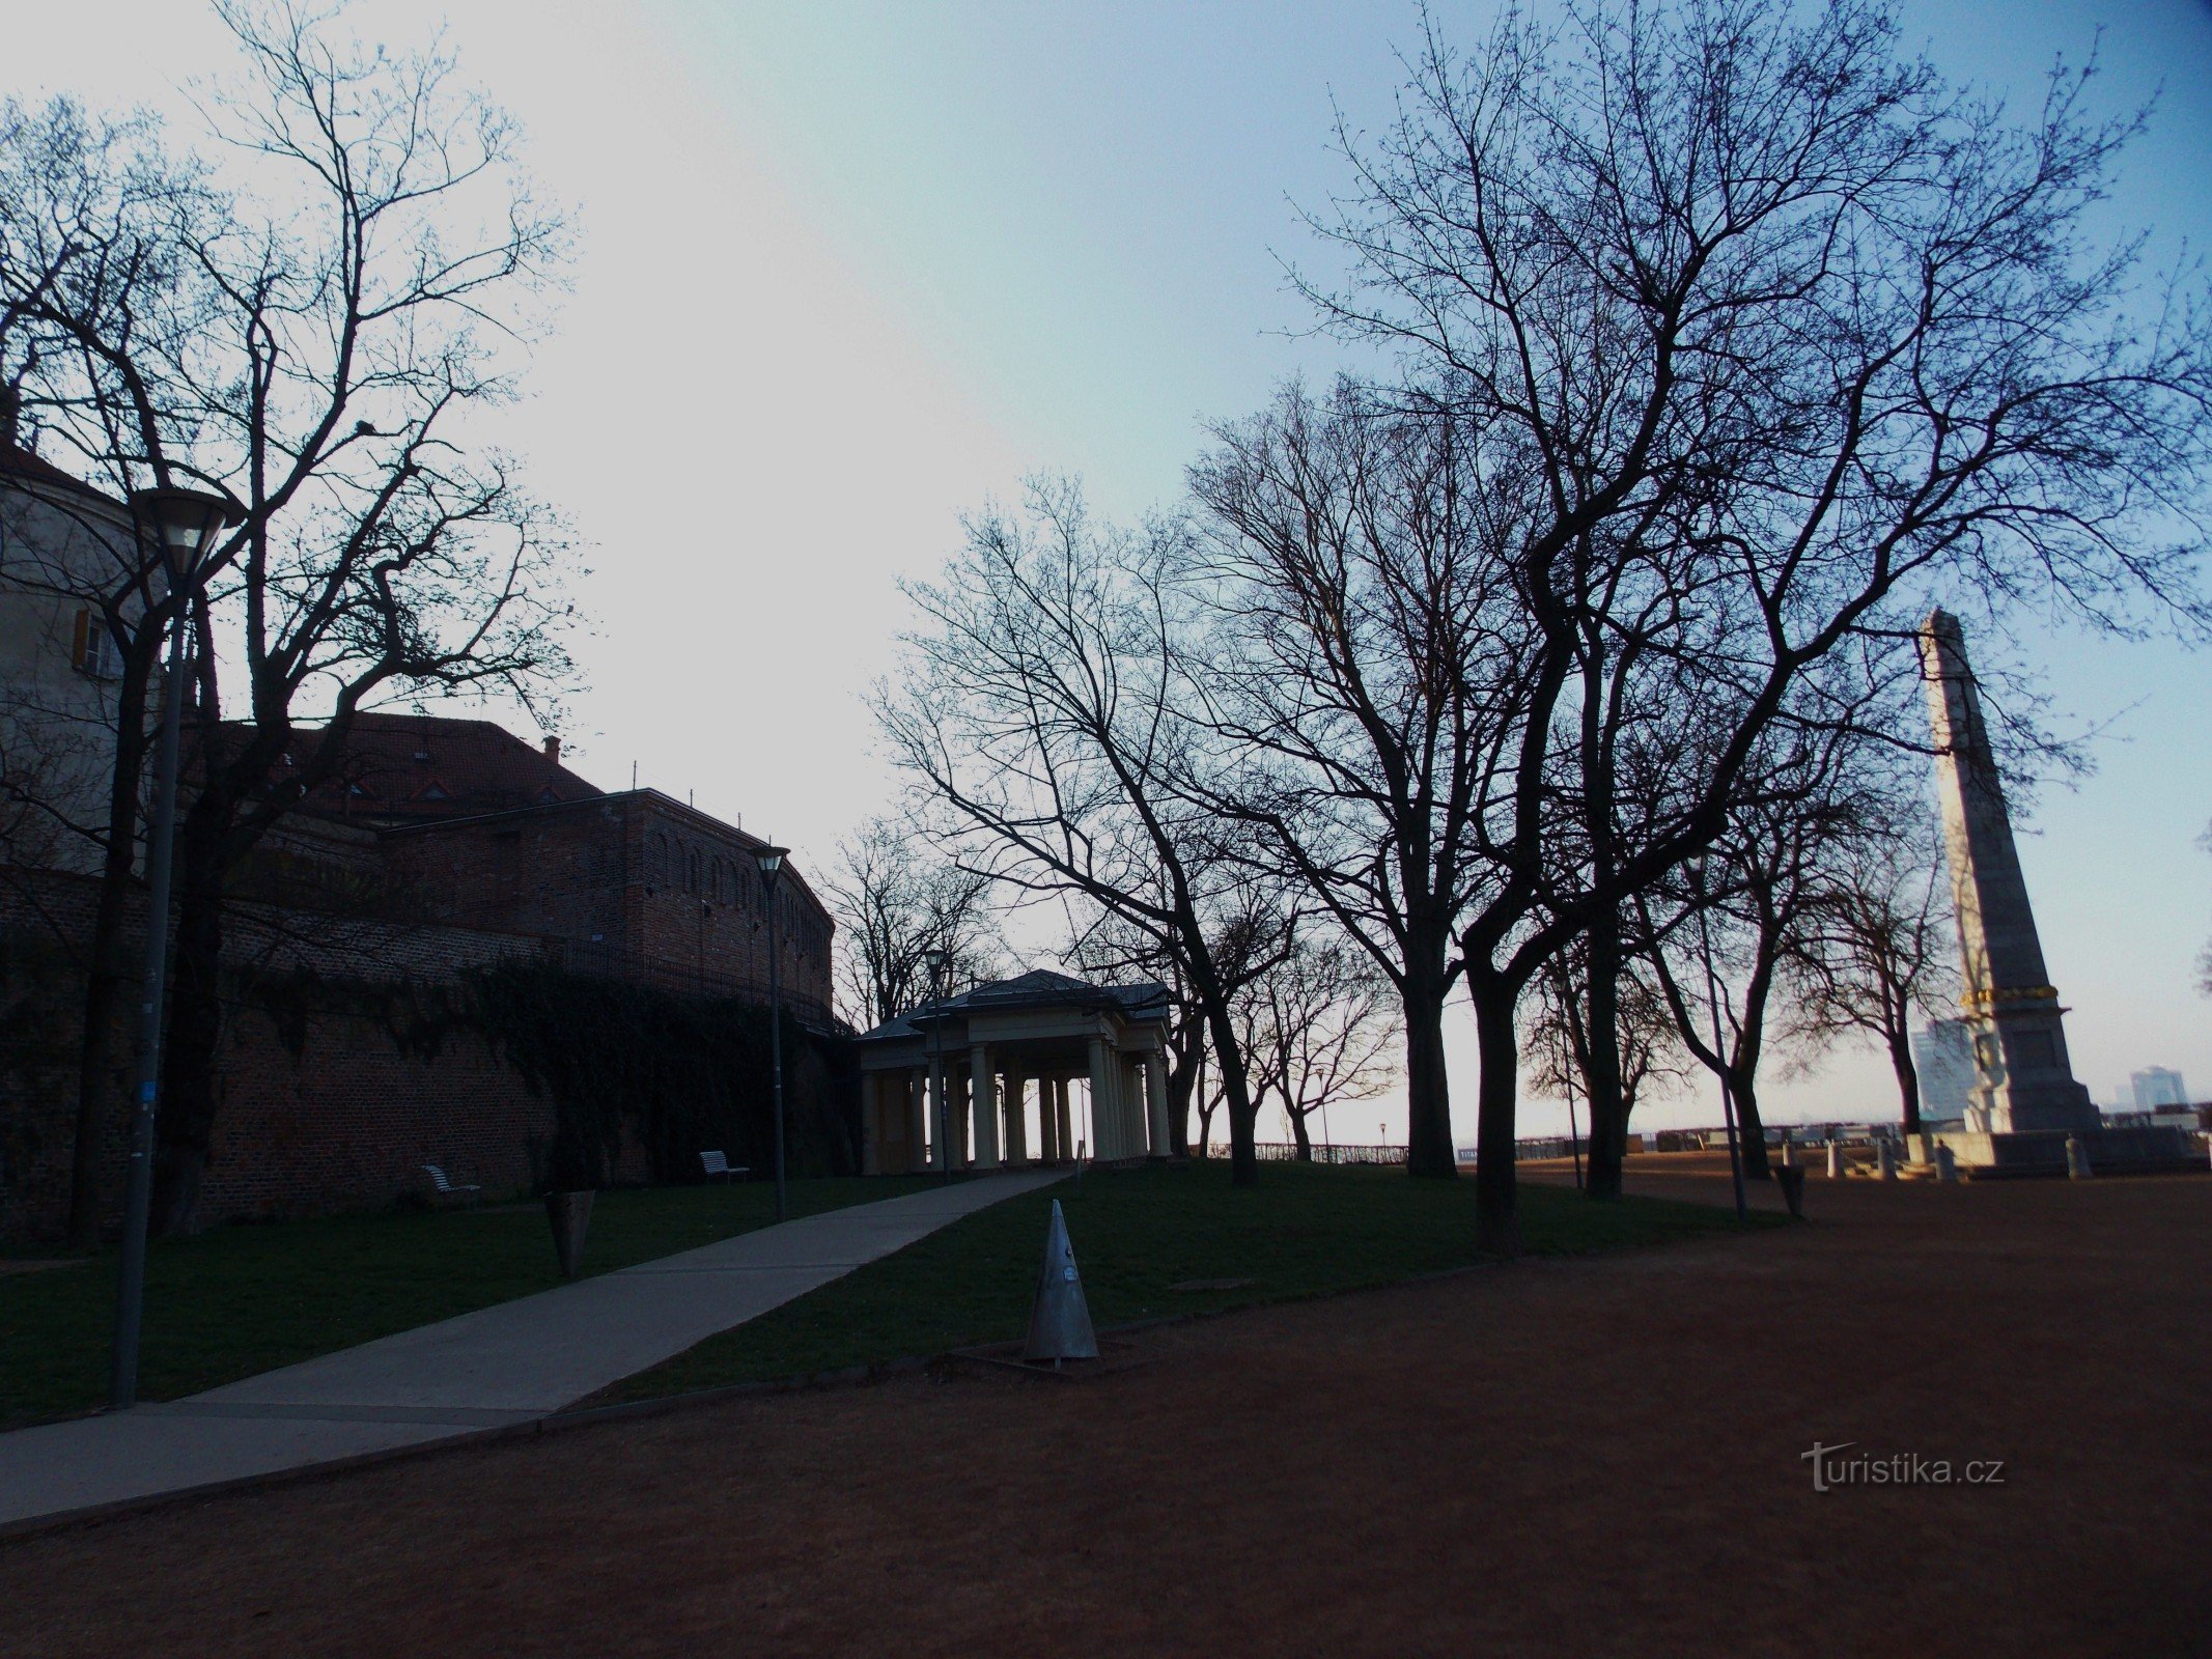
[[[1438, 2], [1458, 40], [1491, 4]], [[690, 796], [805, 867], [896, 796], [867, 688], [960, 515], [1026, 473], [1082, 476], [1110, 513], [1168, 502], [1203, 422], [1329, 376], [1287, 292], [1298, 204], [1345, 188], [1336, 111], [1374, 126], [1409, 0], [363, 0], [394, 44], [445, 29], [526, 131], [580, 232], [573, 292], [502, 442], [573, 520], [584, 690], [571, 763]], [[1958, 80], [2039, 97], [2093, 46], [2097, 102], [2157, 95], [2106, 208], [2159, 254], [2212, 248], [2212, 2], [1905, 0]], [[0, 95], [179, 113], [226, 38], [192, 0], [84, 0], [7, 24]], [[1971, 644], [1971, 641], [1969, 641]], [[2048, 787], [2022, 863], [2075, 1073], [2137, 1066], [2212, 1097], [2212, 661], [2022, 617], [2095, 772]], [[529, 732], [524, 732], [529, 734]], [[1460, 1139], [1473, 1033], [1453, 1020]], [[1887, 1066], [1840, 1051], [1767, 1077], [1776, 1121], [1887, 1117]], [[1389, 1137], [1391, 1099], [1338, 1108]], [[1708, 1086], [1637, 1124], [1708, 1124]], [[1531, 1102], [1524, 1133], [1564, 1126]], [[1265, 1133], [1265, 1130], [1263, 1130]]]

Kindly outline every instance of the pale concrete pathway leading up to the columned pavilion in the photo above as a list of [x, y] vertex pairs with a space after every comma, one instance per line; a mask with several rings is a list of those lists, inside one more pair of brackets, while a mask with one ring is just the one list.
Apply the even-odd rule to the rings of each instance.
[[825, 1210], [188, 1400], [0, 1433], [0, 1526], [533, 1422], [1062, 1175]]

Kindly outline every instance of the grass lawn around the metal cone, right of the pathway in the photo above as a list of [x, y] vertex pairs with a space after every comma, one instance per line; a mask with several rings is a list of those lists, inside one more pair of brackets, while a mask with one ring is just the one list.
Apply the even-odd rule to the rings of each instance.
[[[644, 1400], [730, 1383], [790, 1378], [1022, 1336], [1053, 1199], [1099, 1327], [1166, 1314], [1387, 1285], [1464, 1267], [1475, 1252], [1475, 1183], [1402, 1170], [1267, 1164], [1261, 1186], [1230, 1186], [1228, 1164], [1093, 1172], [1006, 1199], [799, 1301], [710, 1336], [595, 1396]], [[1520, 1188], [1522, 1245], [1577, 1254], [1778, 1225], [1754, 1212], [1666, 1199], [1590, 1203], [1571, 1188]], [[1177, 1292], [1192, 1279], [1234, 1290]]]

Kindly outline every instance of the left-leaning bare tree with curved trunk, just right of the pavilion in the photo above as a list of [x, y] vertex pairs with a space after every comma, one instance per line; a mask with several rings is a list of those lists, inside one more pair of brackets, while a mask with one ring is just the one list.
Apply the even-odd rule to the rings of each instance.
[[898, 763], [958, 823], [962, 865], [1018, 894], [1071, 896], [1172, 953], [1228, 1091], [1232, 1179], [1259, 1179], [1252, 1097], [1217, 918], [1243, 880], [1232, 825], [1186, 781], [1208, 763], [1186, 710], [1186, 624], [1170, 571], [1183, 531], [1095, 522], [1073, 484], [969, 522], [967, 551], [909, 586], [907, 635], [876, 712]]

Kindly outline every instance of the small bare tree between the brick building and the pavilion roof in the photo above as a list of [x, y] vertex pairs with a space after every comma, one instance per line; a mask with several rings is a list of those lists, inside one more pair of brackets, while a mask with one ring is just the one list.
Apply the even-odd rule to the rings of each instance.
[[838, 925], [838, 989], [863, 1031], [933, 993], [938, 953], [956, 993], [1004, 964], [991, 880], [942, 858], [907, 816], [863, 823], [838, 847], [823, 891]]

